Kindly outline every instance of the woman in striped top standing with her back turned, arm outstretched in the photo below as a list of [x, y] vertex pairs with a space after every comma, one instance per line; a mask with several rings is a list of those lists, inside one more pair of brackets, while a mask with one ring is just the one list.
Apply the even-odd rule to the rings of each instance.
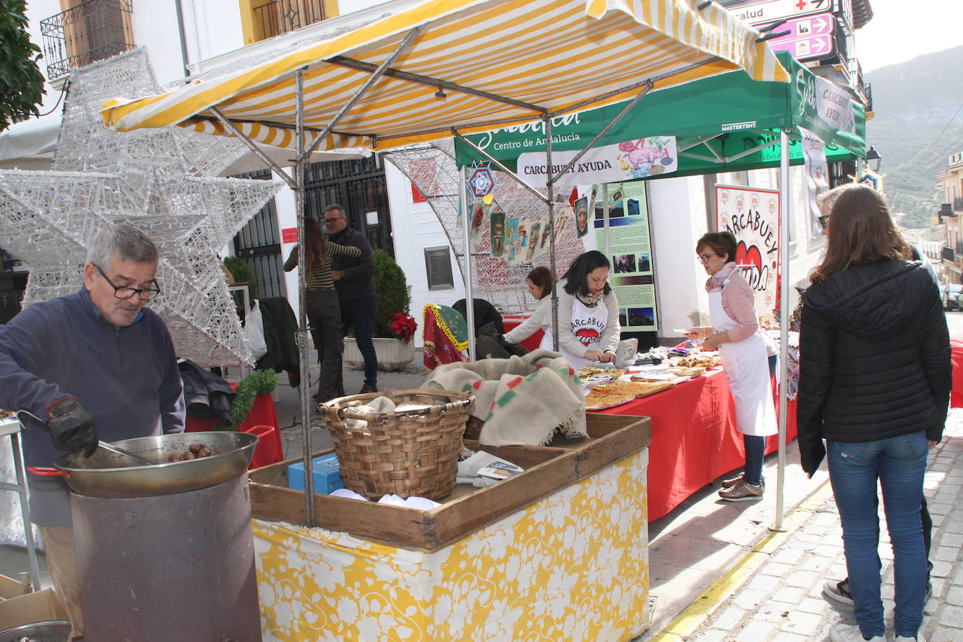
[[295, 245], [291, 255], [284, 262], [284, 271], [294, 270], [299, 262], [304, 268], [304, 281], [307, 286], [307, 321], [311, 326], [311, 340], [318, 350], [321, 362], [321, 375], [318, 392], [314, 398], [319, 401], [344, 397], [345, 389], [341, 379], [341, 308], [338, 293], [331, 279], [331, 256], [361, 256], [361, 250], [351, 245], [325, 242], [321, 224], [314, 218], [304, 218], [304, 261], [299, 260], [299, 247]]

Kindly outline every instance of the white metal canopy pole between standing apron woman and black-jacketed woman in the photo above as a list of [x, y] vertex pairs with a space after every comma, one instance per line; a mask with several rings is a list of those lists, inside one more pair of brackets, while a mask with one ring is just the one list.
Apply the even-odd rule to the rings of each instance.
[[786, 490], [786, 413], [789, 402], [786, 397], [787, 377], [789, 376], [789, 136], [786, 130], [779, 130], [779, 249], [782, 260], [779, 278], [779, 454], [776, 464], [776, 520], [772, 530], [785, 530]]

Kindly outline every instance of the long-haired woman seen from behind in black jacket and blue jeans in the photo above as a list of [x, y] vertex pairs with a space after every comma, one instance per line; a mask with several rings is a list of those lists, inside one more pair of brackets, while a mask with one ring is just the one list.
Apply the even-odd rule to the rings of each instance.
[[885, 639], [878, 480], [893, 545], [896, 639], [921, 642], [920, 507], [926, 450], [947, 419], [950, 336], [939, 290], [919, 261], [907, 261], [883, 196], [860, 184], [833, 192], [826, 254], [802, 296], [796, 410], [803, 470], [812, 476], [823, 456], [829, 464], [858, 622], [833, 626], [829, 637]]

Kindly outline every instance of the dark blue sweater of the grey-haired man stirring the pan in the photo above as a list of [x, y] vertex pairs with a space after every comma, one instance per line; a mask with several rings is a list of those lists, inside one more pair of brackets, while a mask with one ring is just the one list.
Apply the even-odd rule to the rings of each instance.
[[[91, 413], [105, 442], [182, 432], [183, 385], [164, 321], [144, 308], [137, 321], [117, 328], [81, 288], [0, 325], [0, 408], [46, 420], [46, 405], [70, 395]], [[19, 417], [27, 466], [50, 466], [65, 454], [43, 424]], [[28, 473], [27, 481], [31, 521], [70, 526], [63, 480]]]

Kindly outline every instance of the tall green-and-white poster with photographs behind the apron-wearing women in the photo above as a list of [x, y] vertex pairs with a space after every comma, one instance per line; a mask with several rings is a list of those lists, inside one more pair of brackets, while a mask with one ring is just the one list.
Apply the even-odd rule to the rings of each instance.
[[[619, 323], [623, 331], [654, 332], [659, 323], [645, 183], [610, 183], [608, 192], [609, 283], [618, 299]], [[603, 191], [594, 193], [601, 198]], [[593, 202], [592, 209], [595, 243], [605, 247], [604, 203]]]

